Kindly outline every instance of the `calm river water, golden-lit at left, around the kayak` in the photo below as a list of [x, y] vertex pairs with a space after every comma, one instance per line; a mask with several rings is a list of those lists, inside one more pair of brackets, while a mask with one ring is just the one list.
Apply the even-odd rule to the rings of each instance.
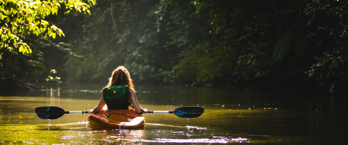
[[40, 106], [65, 111], [95, 107], [103, 85], [38, 84], [40, 91], [0, 96], [2, 144], [345, 144], [347, 101], [315, 94], [264, 94], [199, 87], [136, 86], [143, 108], [168, 111], [203, 106], [193, 119], [145, 114], [137, 130], [93, 128], [88, 114], [44, 120]]

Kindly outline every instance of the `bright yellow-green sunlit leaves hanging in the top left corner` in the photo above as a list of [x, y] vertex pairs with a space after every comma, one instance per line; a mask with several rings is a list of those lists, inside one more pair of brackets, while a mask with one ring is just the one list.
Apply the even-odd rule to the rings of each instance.
[[1, 0], [0, 19], [4, 23], [0, 23], [0, 49], [30, 54], [32, 50], [28, 43], [24, 42], [25, 35], [35, 34], [53, 39], [56, 38], [56, 34], [64, 36], [63, 31], [45, 21], [45, 17], [57, 15], [61, 5], [69, 7], [70, 10], [75, 9], [78, 12], [90, 14], [88, 8], [95, 5], [95, 0], [87, 0], [87, 2], [84, 3], [82, 0]]

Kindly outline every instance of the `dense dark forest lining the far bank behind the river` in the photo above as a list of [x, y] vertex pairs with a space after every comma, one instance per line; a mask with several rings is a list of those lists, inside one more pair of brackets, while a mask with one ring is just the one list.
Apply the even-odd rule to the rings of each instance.
[[[8, 1], [0, 4], [2, 38]], [[18, 37], [31, 49], [6, 46], [2, 39], [1, 83], [15, 75], [106, 84], [112, 70], [124, 65], [139, 85], [348, 92], [347, 0], [86, 3], [90, 15], [61, 7], [44, 17], [61, 37], [25, 31]]]

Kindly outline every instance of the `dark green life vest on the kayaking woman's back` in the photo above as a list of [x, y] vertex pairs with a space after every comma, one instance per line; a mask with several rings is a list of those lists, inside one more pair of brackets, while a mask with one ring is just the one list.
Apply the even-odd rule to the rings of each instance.
[[103, 95], [108, 109], [128, 109], [130, 105], [128, 86], [110, 86], [103, 89]]

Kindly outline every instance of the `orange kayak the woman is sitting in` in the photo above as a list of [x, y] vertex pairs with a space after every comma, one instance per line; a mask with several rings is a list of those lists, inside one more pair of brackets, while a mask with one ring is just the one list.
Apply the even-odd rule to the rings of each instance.
[[133, 110], [103, 110], [89, 115], [88, 124], [102, 128], [137, 129], [145, 126], [145, 118]]

